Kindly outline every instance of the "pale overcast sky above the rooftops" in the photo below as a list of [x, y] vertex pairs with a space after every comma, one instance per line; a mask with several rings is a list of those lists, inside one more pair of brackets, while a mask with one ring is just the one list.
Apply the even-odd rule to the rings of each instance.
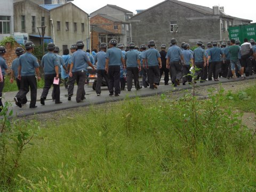
[[[163, 2], [164, 0], [74, 0], [74, 4], [84, 10], [86, 13], [92, 13], [100, 9], [107, 4], [113, 4], [122, 7], [123, 9], [132, 11], [134, 14], [135, 10], [138, 9], [148, 9], [151, 6], [154, 6], [158, 3]], [[233, 17], [250, 19], [253, 22], [256, 22], [256, 1], [255, 0], [182, 0], [183, 2], [193, 3], [197, 5], [203, 5], [211, 7], [214, 5], [224, 6], [225, 13]], [[252, 9], [250, 9], [252, 7]]]

